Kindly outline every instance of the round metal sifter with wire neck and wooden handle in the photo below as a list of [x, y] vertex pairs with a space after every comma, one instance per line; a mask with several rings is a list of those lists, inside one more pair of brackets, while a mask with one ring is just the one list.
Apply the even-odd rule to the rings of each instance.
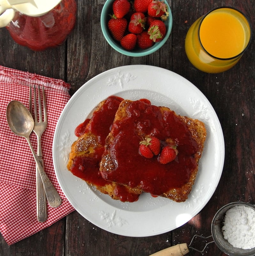
[[[211, 225], [211, 231], [212, 231], [211, 236], [203, 237], [203, 236], [195, 235], [195, 236], [193, 236], [189, 245], [186, 243], [177, 244], [177, 245], [171, 246], [169, 248], [166, 248], [162, 251], [155, 252], [155, 253], [151, 254], [150, 256], [184, 256], [185, 254], [187, 254], [189, 252], [189, 249], [192, 249], [192, 250], [195, 250], [198, 252], [204, 252], [206, 246], [213, 242], [219, 247], [219, 249], [222, 252], [224, 252], [230, 256], [254, 256], [255, 255], [255, 247], [251, 248], [251, 249], [236, 248], [233, 245], [231, 245], [230, 243], [228, 243], [228, 241], [226, 239], [224, 239], [223, 234], [222, 234], [221, 228], [223, 226], [223, 221], [224, 221], [226, 212], [230, 208], [238, 206], [238, 205], [251, 207], [255, 211], [255, 206], [253, 204], [248, 204], [248, 203], [244, 203], [244, 202], [233, 202], [230, 204], [226, 204], [225, 206], [221, 207], [220, 210], [213, 217], [213, 221], [212, 221], [212, 225]], [[200, 237], [203, 239], [208, 239], [208, 238], [212, 237], [213, 241], [206, 243], [204, 249], [202, 251], [199, 251], [196, 248], [193, 248], [191, 246], [195, 237]]]

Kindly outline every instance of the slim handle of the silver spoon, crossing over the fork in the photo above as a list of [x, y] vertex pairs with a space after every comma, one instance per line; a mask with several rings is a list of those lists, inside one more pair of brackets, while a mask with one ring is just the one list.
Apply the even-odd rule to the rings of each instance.
[[54, 188], [51, 181], [49, 180], [47, 174], [44, 172], [43, 167], [35, 154], [35, 151], [31, 145], [29, 138], [26, 138], [26, 140], [27, 140], [27, 143], [28, 143], [28, 145], [32, 151], [32, 154], [35, 158], [35, 163], [37, 165], [38, 172], [39, 172], [42, 182], [43, 182], [43, 187], [45, 190], [45, 194], [46, 194], [48, 203], [50, 204], [51, 207], [58, 207], [62, 203], [62, 199], [59, 196], [56, 188]]

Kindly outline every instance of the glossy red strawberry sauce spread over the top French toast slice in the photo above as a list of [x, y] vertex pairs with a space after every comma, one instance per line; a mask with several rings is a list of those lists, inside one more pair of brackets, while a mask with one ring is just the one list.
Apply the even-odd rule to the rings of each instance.
[[[198, 149], [187, 125], [173, 111], [165, 111], [162, 115], [158, 107], [145, 100], [133, 101], [126, 112], [128, 116], [125, 120], [112, 125], [114, 141], [110, 155], [116, 168], [112, 172], [102, 172], [102, 176], [130, 187], [138, 186], [152, 195], [162, 195], [187, 183], [190, 172], [197, 168], [194, 154]], [[161, 164], [157, 156], [141, 156], [138, 150], [141, 134], [157, 137], [162, 145], [167, 138], [174, 140], [179, 152], [175, 160]]]

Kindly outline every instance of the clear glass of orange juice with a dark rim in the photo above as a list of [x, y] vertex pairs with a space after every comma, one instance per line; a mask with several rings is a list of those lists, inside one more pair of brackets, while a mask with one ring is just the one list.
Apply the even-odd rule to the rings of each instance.
[[251, 42], [251, 25], [233, 7], [213, 9], [196, 20], [185, 38], [185, 52], [199, 70], [220, 73], [232, 68]]

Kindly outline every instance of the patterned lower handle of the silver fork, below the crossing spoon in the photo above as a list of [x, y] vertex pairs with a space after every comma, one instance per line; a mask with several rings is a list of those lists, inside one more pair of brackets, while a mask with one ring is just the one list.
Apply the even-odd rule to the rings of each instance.
[[[43, 159], [38, 157], [38, 160], [44, 168]], [[38, 167], [36, 165], [36, 214], [39, 222], [44, 222], [48, 219], [47, 198], [43, 188], [43, 181], [41, 179]]]

